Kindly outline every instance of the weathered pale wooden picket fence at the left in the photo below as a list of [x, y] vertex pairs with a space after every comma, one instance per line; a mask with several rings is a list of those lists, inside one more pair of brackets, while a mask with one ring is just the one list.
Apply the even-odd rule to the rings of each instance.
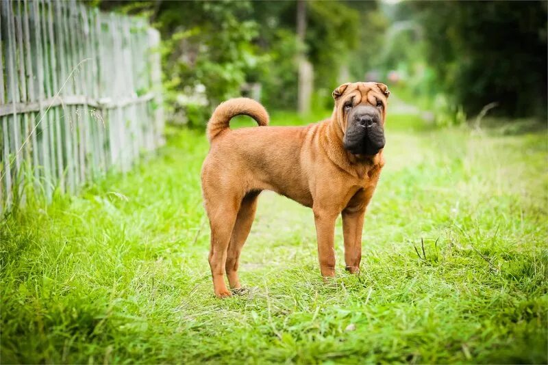
[[0, 211], [164, 143], [158, 31], [75, 1], [0, 0]]

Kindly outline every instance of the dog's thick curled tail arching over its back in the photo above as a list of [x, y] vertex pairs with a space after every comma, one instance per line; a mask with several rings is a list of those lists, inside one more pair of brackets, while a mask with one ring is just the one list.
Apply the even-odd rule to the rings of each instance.
[[260, 126], [269, 125], [269, 113], [256, 100], [250, 98], [229, 99], [215, 108], [208, 122], [208, 140], [210, 143], [219, 133], [228, 129], [229, 122], [235, 116], [250, 116]]

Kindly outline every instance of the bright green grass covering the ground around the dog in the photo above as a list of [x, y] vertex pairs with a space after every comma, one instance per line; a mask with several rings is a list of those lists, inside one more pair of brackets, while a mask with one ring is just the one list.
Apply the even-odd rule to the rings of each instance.
[[[273, 114], [288, 120], [304, 122]], [[130, 174], [2, 221], [1, 362], [547, 362], [545, 132], [390, 116], [361, 275], [343, 270], [338, 221], [323, 284], [312, 212], [265, 192], [241, 259], [249, 293], [225, 300], [207, 261], [207, 150], [171, 130]]]

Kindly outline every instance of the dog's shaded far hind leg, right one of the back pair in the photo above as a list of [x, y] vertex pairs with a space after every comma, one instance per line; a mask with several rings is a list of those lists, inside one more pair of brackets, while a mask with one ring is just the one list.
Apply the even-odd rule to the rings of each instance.
[[227, 261], [225, 269], [227, 271], [228, 282], [230, 288], [240, 289], [240, 280], [238, 280], [238, 265], [240, 260], [240, 252], [249, 235], [253, 219], [255, 218], [255, 212], [257, 210], [257, 200], [259, 197], [259, 191], [253, 191], [247, 193], [240, 205], [240, 211], [236, 217], [236, 224], [234, 224], [234, 230], [232, 230], [232, 236], [228, 245]]

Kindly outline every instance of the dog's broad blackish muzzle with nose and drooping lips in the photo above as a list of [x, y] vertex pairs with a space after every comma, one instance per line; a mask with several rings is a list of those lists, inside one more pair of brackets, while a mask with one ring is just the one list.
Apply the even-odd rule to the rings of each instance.
[[345, 149], [352, 154], [374, 155], [384, 144], [384, 129], [379, 112], [373, 107], [358, 107], [348, 116], [343, 139]]

